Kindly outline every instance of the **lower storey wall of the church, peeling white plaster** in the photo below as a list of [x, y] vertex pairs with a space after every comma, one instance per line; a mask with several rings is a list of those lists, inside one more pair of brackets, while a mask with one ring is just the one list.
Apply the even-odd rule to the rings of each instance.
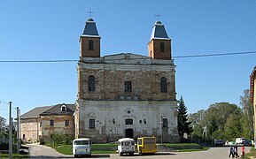
[[[93, 142], [111, 142], [127, 137], [126, 130], [133, 130], [133, 138], [161, 135], [166, 142], [178, 141], [177, 102], [135, 101], [77, 101], [80, 105], [79, 135]], [[82, 107], [81, 107], [82, 106]], [[95, 129], [89, 129], [89, 119], [94, 118]], [[161, 129], [161, 119], [167, 118], [166, 128]], [[132, 125], [125, 120], [132, 119]], [[163, 133], [161, 133], [163, 131]]]

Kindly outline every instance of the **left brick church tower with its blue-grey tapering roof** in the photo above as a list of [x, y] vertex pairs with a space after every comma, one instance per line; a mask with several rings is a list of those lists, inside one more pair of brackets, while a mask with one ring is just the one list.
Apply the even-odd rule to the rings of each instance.
[[100, 57], [100, 38], [96, 22], [89, 18], [80, 37], [80, 57]]

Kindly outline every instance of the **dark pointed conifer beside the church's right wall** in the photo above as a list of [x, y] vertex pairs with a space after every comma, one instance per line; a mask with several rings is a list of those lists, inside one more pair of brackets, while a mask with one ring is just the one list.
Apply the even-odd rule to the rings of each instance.
[[178, 133], [181, 141], [184, 141], [183, 139], [184, 133], [187, 133], [188, 135], [190, 135], [190, 133], [192, 133], [193, 131], [192, 128], [190, 127], [191, 123], [188, 121], [187, 113], [188, 113], [187, 107], [185, 106], [185, 103], [181, 96], [181, 100], [178, 105]]

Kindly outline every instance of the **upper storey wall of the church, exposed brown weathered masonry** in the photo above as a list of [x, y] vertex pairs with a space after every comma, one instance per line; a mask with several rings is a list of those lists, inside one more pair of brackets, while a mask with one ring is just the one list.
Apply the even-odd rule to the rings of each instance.
[[[175, 100], [175, 69], [170, 65], [166, 70], [157, 71], [154, 66], [108, 65], [109, 69], [79, 68], [78, 99], [86, 100], [128, 100], [128, 101], [161, 101]], [[148, 68], [146, 68], [148, 67]], [[123, 68], [123, 69], [122, 69]], [[96, 79], [96, 91], [89, 92], [88, 78]], [[167, 79], [167, 93], [160, 92], [160, 79]], [[132, 91], [125, 92], [124, 82], [132, 82]]]

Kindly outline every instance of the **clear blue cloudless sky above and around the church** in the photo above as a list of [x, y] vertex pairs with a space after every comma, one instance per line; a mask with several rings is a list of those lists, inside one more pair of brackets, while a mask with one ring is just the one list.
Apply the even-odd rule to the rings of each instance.
[[[256, 65], [255, 0], [12, 0], [0, 1], [0, 117], [38, 106], [74, 103], [79, 38], [88, 11], [101, 36], [101, 56], [148, 56], [147, 43], [159, 14], [172, 39], [176, 98], [189, 113], [215, 102], [240, 105]], [[254, 51], [252, 54], [190, 57]], [[179, 58], [180, 57], [180, 58]]]

